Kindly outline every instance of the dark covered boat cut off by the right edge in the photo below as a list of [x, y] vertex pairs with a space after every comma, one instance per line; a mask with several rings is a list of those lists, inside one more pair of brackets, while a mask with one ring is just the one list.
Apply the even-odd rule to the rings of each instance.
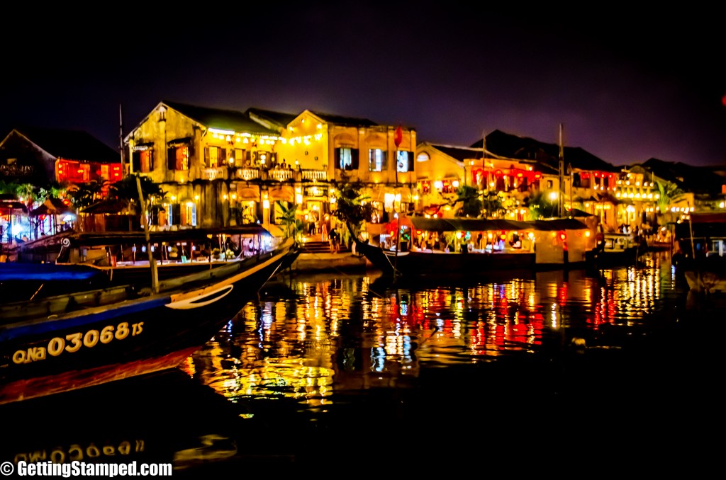
[[726, 292], [726, 212], [691, 213], [675, 225], [672, 264], [688, 288]]

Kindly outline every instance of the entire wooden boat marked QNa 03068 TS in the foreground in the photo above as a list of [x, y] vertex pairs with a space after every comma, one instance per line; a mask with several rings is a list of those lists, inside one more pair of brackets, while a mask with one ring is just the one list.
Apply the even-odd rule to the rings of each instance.
[[[293, 245], [162, 280], [157, 293], [111, 285], [0, 305], [0, 404], [173, 368], [254, 298]], [[78, 269], [89, 271], [65, 266]], [[50, 278], [58, 272], [52, 265]]]

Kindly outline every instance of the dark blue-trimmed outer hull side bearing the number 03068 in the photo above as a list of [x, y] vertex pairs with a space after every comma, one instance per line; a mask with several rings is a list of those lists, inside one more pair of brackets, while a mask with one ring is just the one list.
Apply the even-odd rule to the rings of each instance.
[[[188, 355], [207, 342], [285, 262], [290, 248], [184, 277], [182, 288], [0, 326], [0, 403], [38, 396], [54, 376]], [[178, 362], [177, 362], [178, 363]], [[123, 375], [128, 376], [128, 372]], [[42, 379], [38, 382], [38, 379]], [[89, 379], [90, 381], [93, 378]], [[48, 385], [52, 389], [52, 385]]]

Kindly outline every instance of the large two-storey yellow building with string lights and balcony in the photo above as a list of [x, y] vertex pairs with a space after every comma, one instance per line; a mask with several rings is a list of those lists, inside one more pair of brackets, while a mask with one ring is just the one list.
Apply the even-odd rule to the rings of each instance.
[[[305, 110], [300, 114], [160, 102], [125, 138], [128, 170], [159, 183], [152, 228], [260, 223], [282, 235], [286, 208], [330, 220], [335, 185], [361, 181], [379, 208], [409, 210], [412, 128]], [[318, 225], [319, 226], [319, 225]]]

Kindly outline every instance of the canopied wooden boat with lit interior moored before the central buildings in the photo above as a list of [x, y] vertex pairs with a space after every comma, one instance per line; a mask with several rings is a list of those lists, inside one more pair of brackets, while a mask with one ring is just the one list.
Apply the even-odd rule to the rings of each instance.
[[449, 248], [429, 245], [426, 238], [425, 247], [416, 247], [416, 241], [406, 243], [408, 240], [399, 241], [399, 248], [388, 247], [393, 235], [382, 235], [385, 238], [379, 244], [356, 239], [356, 251], [384, 275], [483, 278], [502, 270], [584, 267], [587, 250], [594, 247], [595, 240], [592, 228], [572, 218], [518, 222], [412, 216], [407, 221], [412, 236], [446, 236]]

